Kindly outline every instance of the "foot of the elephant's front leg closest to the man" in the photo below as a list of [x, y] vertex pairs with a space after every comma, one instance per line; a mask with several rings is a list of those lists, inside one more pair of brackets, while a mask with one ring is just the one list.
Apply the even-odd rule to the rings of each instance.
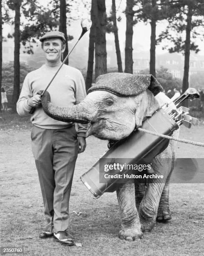
[[142, 238], [142, 231], [140, 228], [123, 228], [119, 231], [118, 237], [131, 242]]

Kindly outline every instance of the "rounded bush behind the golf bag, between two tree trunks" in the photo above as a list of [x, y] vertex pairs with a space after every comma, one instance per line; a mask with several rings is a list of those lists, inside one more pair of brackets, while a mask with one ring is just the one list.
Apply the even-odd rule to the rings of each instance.
[[[149, 69], [141, 70], [140, 74], [149, 74]], [[173, 75], [168, 72], [168, 69], [162, 66], [156, 70], [156, 79], [160, 82], [165, 92], [174, 90], [174, 88], [180, 90], [182, 87], [181, 79], [173, 77]]]

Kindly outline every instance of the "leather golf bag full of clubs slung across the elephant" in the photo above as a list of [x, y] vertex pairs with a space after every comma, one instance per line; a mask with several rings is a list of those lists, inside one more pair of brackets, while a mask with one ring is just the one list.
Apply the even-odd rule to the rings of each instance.
[[[198, 98], [199, 93], [196, 89], [187, 89], [174, 102], [163, 92], [159, 92], [155, 97], [161, 108], [142, 123], [142, 129], [171, 136], [174, 131], [179, 129], [180, 125], [183, 124], [190, 128], [191, 124], [197, 123], [197, 119], [189, 115], [189, 108], [182, 106], [176, 108], [186, 99]], [[81, 181], [96, 198], [99, 198], [104, 192], [113, 192], [118, 188], [119, 183], [126, 183], [127, 179], [117, 178], [117, 175], [121, 174], [121, 170], [114, 170], [116, 176], [110, 175], [111, 177], [104, 179], [105, 165], [113, 165], [116, 162], [118, 165], [124, 163], [126, 165], [151, 164], [154, 156], [161, 153], [168, 146], [168, 142], [169, 140], [166, 138], [154, 136], [137, 129], [127, 138], [114, 143], [96, 164], [81, 176]], [[123, 174], [128, 172], [129, 170], [126, 170]], [[134, 173], [139, 174], [138, 170]], [[154, 173], [154, 171], [151, 169], [149, 173]]]

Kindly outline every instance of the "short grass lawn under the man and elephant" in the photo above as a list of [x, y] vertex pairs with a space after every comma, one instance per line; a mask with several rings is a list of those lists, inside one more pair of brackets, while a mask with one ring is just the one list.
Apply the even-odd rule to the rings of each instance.
[[[171, 184], [172, 219], [156, 223], [141, 241], [118, 238], [116, 193], [95, 199], [79, 179], [107, 149], [106, 141], [92, 136], [78, 156], [70, 200], [70, 232], [82, 247], [40, 239], [46, 223], [30, 130], [29, 117], [0, 113], [1, 247], [23, 247], [29, 256], [204, 255], [204, 184]], [[204, 126], [182, 127], [180, 138], [204, 143]], [[176, 151], [178, 157], [204, 156], [204, 148], [184, 143], [177, 143]]]

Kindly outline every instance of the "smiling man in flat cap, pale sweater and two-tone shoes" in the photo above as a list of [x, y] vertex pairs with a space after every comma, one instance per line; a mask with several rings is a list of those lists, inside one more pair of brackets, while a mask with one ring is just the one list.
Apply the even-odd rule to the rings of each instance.
[[[30, 119], [34, 125], [31, 140], [47, 220], [40, 238], [53, 236], [55, 241], [73, 245], [73, 237], [67, 231], [70, 220], [68, 206], [77, 154], [86, 148], [86, 126], [78, 124], [76, 133], [73, 123], [54, 120], [44, 113], [38, 91], [45, 89], [60, 67], [65, 37], [59, 31], [51, 31], [40, 41], [45, 64], [25, 77], [17, 112], [28, 115], [31, 108], [36, 108]], [[78, 104], [86, 97], [81, 72], [63, 65], [48, 92], [55, 105]]]

